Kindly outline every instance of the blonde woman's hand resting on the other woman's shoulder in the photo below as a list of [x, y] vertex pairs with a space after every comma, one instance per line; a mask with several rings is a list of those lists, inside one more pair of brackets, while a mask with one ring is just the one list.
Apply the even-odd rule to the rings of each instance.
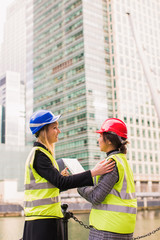
[[91, 170], [92, 177], [97, 175], [103, 175], [105, 173], [111, 172], [115, 166], [115, 161], [113, 159], [109, 159], [108, 161], [102, 160], [98, 162], [96, 166]]

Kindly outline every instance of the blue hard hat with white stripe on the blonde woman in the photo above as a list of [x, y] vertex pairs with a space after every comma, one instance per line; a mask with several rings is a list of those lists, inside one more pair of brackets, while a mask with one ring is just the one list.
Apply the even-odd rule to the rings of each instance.
[[32, 114], [29, 127], [32, 134], [38, 132], [43, 126], [56, 122], [61, 115], [55, 116], [51, 111], [39, 110]]

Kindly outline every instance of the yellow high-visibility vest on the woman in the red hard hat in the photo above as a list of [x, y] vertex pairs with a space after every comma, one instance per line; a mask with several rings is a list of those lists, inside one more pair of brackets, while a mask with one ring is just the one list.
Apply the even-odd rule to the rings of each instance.
[[[103, 202], [92, 205], [89, 223], [95, 229], [129, 234], [134, 232], [137, 212], [137, 199], [133, 172], [125, 154], [110, 155], [114, 159], [119, 173], [119, 180]], [[95, 179], [98, 183], [100, 176]]]

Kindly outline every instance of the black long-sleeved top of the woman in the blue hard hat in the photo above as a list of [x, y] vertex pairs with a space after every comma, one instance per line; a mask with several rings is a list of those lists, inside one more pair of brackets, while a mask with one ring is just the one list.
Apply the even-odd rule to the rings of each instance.
[[[39, 142], [35, 142], [34, 146], [46, 149], [46, 147]], [[61, 191], [83, 186], [93, 186], [91, 171], [85, 171], [71, 176], [62, 176], [53, 166], [47, 155], [40, 150], [36, 151], [33, 167], [41, 177], [45, 178]]]

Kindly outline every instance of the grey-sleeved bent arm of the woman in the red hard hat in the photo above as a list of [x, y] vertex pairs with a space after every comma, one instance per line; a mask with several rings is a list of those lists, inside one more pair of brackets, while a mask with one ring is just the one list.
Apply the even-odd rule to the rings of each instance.
[[97, 185], [79, 188], [78, 193], [90, 203], [99, 204], [110, 193], [118, 179], [118, 169], [115, 165], [112, 172], [100, 177]]

